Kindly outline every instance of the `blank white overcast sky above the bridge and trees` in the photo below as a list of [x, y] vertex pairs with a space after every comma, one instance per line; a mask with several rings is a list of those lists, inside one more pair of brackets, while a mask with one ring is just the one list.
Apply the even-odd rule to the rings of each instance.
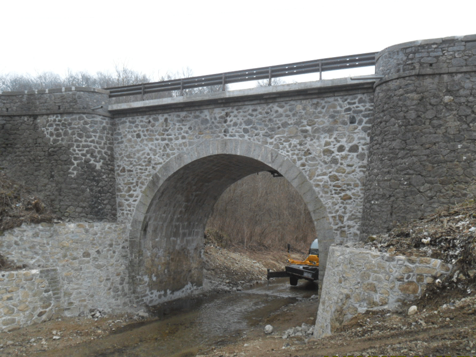
[[125, 64], [157, 80], [476, 33], [474, 0], [24, 0], [0, 13], [0, 74]]

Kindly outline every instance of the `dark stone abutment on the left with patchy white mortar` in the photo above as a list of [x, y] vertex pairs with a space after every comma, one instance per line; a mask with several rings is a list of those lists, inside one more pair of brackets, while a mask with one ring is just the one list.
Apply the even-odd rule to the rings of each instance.
[[107, 108], [107, 92], [38, 92], [0, 94], [2, 172], [41, 192], [60, 217], [115, 221], [112, 119], [91, 110]]

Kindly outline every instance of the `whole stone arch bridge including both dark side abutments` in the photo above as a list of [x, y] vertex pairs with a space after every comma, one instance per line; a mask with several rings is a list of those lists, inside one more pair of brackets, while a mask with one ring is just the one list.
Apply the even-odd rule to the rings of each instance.
[[247, 175], [278, 172], [314, 221], [322, 279], [330, 244], [475, 191], [475, 43], [390, 47], [376, 57], [377, 79], [125, 104], [94, 88], [1, 92], [0, 167], [71, 222], [123, 227], [126, 253], [110, 254], [128, 273], [115, 297], [146, 304], [199, 287], [217, 198]]

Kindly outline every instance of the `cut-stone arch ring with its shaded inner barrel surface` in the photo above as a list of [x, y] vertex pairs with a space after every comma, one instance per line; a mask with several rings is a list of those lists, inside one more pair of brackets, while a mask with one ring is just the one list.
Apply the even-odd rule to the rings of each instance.
[[167, 161], [142, 192], [129, 233], [133, 301], [155, 305], [200, 287], [203, 234], [215, 202], [239, 179], [271, 170], [296, 188], [309, 209], [319, 239], [322, 282], [334, 233], [304, 173], [267, 146], [239, 139], [207, 140]]

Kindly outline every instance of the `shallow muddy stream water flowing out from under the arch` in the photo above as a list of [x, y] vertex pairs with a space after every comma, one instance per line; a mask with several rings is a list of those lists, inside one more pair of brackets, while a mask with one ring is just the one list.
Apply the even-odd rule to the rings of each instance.
[[269, 287], [180, 299], [158, 306], [158, 320], [119, 329], [102, 342], [85, 344], [80, 352], [98, 357], [195, 356], [263, 328], [270, 313], [312, 295], [317, 295], [317, 286], [299, 281], [291, 287], [280, 279]]

